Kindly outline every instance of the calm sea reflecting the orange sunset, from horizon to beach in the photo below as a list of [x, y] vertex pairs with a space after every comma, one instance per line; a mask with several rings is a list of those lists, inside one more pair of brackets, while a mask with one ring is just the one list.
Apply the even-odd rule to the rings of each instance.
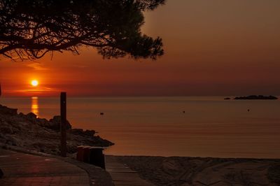
[[[2, 97], [0, 103], [48, 119], [59, 115], [59, 98]], [[68, 98], [67, 109], [74, 128], [94, 129], [116, 143], [107, 155], [280, 158], [278, 100], [84, 97]]]

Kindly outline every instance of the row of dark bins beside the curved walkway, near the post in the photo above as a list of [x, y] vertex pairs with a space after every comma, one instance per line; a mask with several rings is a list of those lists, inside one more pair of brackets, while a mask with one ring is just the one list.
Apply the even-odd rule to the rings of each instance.
[[103, 150], [102, 147], [78, 146], [77, 160], [105, 169]]

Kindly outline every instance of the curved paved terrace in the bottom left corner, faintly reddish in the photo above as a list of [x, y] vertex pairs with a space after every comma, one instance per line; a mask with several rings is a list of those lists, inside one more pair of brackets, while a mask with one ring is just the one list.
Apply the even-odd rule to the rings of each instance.
[[83, 169], [62, 160], [0, 149], [0, 185], [85, 186], [90, 180]]

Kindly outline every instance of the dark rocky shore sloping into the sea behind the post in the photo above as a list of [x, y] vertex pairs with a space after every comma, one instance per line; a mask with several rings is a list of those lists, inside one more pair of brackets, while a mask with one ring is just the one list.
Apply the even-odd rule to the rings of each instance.
[[[37, 118], [34, 113], [18, 114], [18, 109], [0, 105], [0, 143], [28, 150], [59, 155], [60, 116], [50, 120]], [[78, 145], [109, 147], [113, 145], [93, 130], [72, 129], [67, 122], [67, 153], [71, 156]]]

